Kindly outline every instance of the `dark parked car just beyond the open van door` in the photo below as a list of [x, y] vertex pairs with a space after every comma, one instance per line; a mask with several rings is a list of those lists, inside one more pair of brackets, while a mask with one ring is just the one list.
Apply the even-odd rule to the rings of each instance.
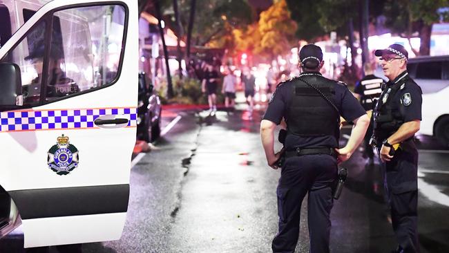
[[160, 136], [160, 97], [147, 85], [145, 73], [139, 73], [139, 104], [137, 106], [137, 140], [153, 142]]

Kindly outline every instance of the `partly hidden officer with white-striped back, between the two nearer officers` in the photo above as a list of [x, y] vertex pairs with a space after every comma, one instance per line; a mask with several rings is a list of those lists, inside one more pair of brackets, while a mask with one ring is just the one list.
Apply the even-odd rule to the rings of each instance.
[[[365, 72], [365, 77], [363, 77], [359, 82], [356, 83], [354, 88], [354, 93], [357, 98], [360, 100], [360, 104], [363, 106], [365, 111], [370, 111], [373, 109], [373, 101], [379, 99], [379, 96], [382, 93], [381, 87], [384, 83], [383, 79], [380, 77], [376, 77], [374, 75], [374, 68], [372, 63], [366, 62], [363, 65], [363, 71]], [[370, 138], [372, 136], [373, 124], [370, 122], [370, 127], [368, 127], [365, 138], [364, 138], [364, 154], [368, 158], [368, 164], [374, 164], [374, 152], [372, 147], [370, 146]]]

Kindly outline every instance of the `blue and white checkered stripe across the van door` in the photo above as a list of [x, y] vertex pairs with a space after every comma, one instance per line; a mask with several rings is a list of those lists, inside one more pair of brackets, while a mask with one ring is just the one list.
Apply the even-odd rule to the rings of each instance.
[[97, 128], [93, 121], [102, 115], [129, 115], [127, 127], [137, 126], [137, 109], [74, 109], [50, 111], [6, 111], [0, 113], [1, 132]]

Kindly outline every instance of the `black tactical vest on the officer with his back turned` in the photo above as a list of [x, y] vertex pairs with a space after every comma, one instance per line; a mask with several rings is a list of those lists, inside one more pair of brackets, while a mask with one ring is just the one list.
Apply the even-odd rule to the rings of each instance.
[[[334, 81], [320, 75], [300, 76], [316, 86], [335, 104]], [[292, 79], [293, 96], [287, 108], [287, 132], [303, 137], [329, 135], [336, 139], [340, 135], [340, 115], [314, 88]]]

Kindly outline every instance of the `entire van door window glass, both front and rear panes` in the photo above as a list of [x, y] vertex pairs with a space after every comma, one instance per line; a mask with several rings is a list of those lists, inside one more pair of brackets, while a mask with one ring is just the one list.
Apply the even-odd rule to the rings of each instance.
[[[34, 14], [23, 10], [25, 19]], [[21, 68], [23, 104], [48, 103], [113, 83], [120, 71], [126, 15], [119, 5], [78, 7], [54, 12], [51, 32], [44, 21], [50, 21], [48, 16], [33, 26], [1, 59]]]

